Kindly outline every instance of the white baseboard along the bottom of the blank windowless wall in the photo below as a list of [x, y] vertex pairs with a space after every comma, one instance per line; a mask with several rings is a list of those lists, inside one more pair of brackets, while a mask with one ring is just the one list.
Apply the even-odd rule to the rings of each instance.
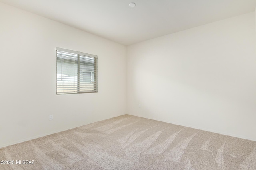
[[256, 141], [256, 139], [252, 139], [251, 137], [235, 135], [235, 134], [232, 134], [232, 133], [226, 133], [226, 132], [215, 131], [215, 130], [212, 130], [212, 129], [200, 128], [200, 127], [195, 127], [195, 126], [189, 126], [189, 125], [184, 125], [184, 124], [181, 124], [181, 123], [175, 123], [175, 122], [166, 121], [166, 120], [162, 120], [162, 119], [154, 119], [154, 118], [148, 117], [148, 116], [139, 116], [139, 115], [133, 115], [133, 114], [129, 114], [129, 113], [127, 113], [127, 114], [128, 115], [132, 115], [132, 116], [146, 118], [146, 119], [152, 119], [152, 120], [162, 121], [162, 122], [166, 122], [166, 123], [171, 123], [171, 124], [174, 124], [174, 125], [190, 127], [190, 128], [193, 128], [193, 129], [199, 129], [199, 130], [203, 130], [203, 131], [218, 133], [218, 134], [221, 134], [221, 135], [227, 135], [227, 136], [231, 136], [231, 137], [238, 137], [238, 138], [241, 138], [241, 139], [247, 139], [247, 140], [250, 140], [250, 141]]

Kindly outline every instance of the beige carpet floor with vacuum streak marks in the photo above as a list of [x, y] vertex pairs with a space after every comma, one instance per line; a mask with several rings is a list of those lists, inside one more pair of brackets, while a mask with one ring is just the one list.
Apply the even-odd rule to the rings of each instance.
[[1, 148], [0, 160], [15, 160], [1, 170], [256, 170], [256, 142], [123, 115]]

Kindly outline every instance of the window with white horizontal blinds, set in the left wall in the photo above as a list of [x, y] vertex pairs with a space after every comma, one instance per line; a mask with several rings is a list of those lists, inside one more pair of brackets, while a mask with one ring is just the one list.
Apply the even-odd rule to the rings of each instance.
[[57, 51], [57, 94], [98, 92], [97, 56], [68, 49]]

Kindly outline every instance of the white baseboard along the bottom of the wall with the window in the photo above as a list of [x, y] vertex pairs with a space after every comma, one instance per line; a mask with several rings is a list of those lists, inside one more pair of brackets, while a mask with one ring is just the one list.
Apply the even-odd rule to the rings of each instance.
[[[122, 114], [122, 115], [126, 115], [126, 114]], [[109, 117], [109, 118], [107, 118], [107, 119], [111, 119], [111, 118], [118, 117], [118, 116], [122, 116], [122, 115], [115, 115], [115, 116]], [[102, 119], [102, 120], [99, 120], [99, 121], [103, 121], [103, 120], [107, 120], [107, 119]], [[10, 145], [14, 145], [14, 144], [17, 144], [17, 143], [22, 143], [22, 142], [30, 141], [30, 140], [32, 140], [32, 139], [44, 137], [44, 136], [47, 136], [47, 135], [52, 135], [52, 134], [54, 134], [54, 133], [59, 133], [59, 132], [62, 132], [62, 131], [67, 131], [67, 130], [70, 130], [70, 129], [74, 129], [74, 128], [77, 128], [77, 127], [80, 127], [80, 126], [84, 126], [84, 125], [88, 125], [88, 124], [96, 123], [96, 122], [98, 122], [98, 121], [94, 121], [94, 122], [90, 122], [90, 123], [78, 125], [78, 126], [76, 126], [76, 127], [72, 127], [72, 128], [68, 128], [68, 129], [62, 129], [62, 130], [58, 130], [58, 131], [52, 131], [52, 132], [49, 132], [49, 133], [44, 133], [44, 134], [41, 134], [41, 135], [36, 135], [36, 136], [33, 136], [33, 137], [21, 139], [21, 140], [14, 141], [14, 142], [11, 142], [11, 143], [6, 143], [6, 144], [4, 144], [4, 145], [0, 145], [0, 148], [7, 147], [7, 146], [10, 146]]]

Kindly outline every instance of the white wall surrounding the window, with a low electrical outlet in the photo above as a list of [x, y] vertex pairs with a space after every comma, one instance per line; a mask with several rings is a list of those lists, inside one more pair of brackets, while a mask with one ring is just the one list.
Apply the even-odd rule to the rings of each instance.
[[[56, 95], [56, 47], [98, 55], [98, 93]], [[2, 3], [0, 72], [0, 147], [126, 113], [125, 46]]]

